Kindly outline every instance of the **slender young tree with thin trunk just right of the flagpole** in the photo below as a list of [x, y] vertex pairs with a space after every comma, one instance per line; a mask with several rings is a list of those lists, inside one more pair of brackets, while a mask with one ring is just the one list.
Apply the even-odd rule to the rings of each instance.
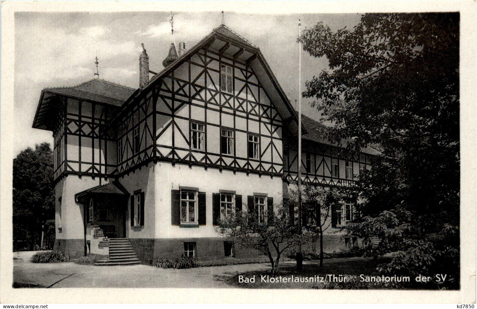
[[[298, 208], [298, 190], [289, 190], [289, 203]], [[323, 266], [323, 232], [332, 224], [332, 207], [350, 196], [344, 190], [322, 185], [304, 185], [301, 194], [303, 226], [320, 238], [320, 267]], [[311, 221], [311, 224], [308, 222]]]

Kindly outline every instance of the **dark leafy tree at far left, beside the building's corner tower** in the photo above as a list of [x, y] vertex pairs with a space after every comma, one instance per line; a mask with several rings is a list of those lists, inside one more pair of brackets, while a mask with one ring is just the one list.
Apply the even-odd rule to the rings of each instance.
[[43, 248], [47, 220], [54, 220], [53, 155], [42, 143], [13, 159], [13, 240]]

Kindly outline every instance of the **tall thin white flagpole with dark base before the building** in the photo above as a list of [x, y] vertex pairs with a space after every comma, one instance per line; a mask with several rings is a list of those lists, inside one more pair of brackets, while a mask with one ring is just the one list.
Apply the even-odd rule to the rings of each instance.
[[[298, 20], [299, 49], [298, 49], [298, 227], [301, 234], [301, 19]], [[298, 245], [297, 270], [303, 269], [301, 244]]]

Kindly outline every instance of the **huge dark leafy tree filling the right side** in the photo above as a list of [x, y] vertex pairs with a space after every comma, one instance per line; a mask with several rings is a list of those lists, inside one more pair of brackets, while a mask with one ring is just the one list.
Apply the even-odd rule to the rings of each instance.
[[[349, 149], [377, 145], [382, 152], [352, 188], [365, 199], [362, 224], [398, 216], [401, 205], [411, 212], [412, 234], [389, 267], [419, 258], [414, 252], [429, 235], [459, 225], [459, 13], [364, 14], [353, 30], [333, 32], [320, 22], [301, 41], [329, 61], [330, 70], [306, 82], [303, 93], [333, 124], [323, 134], [347, 139]], [[458, 251], [459, 233], [448, 237], [449, 248], [430, 240], [431, 264]]]

